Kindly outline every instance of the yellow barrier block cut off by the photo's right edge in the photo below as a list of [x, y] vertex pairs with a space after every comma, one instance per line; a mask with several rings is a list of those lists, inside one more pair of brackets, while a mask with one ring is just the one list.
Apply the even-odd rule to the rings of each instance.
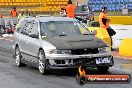
[[123, 39], [119, 47], [119, 55], [132, 56], [132, 38]]

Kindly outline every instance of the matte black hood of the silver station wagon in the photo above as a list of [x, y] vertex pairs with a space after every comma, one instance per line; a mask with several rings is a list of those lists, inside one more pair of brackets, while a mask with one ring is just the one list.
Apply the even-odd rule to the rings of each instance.
[[45, 40], [57, 49], [85, 49], [107, 46], [101, 39], [92, 35], [56, 36]]

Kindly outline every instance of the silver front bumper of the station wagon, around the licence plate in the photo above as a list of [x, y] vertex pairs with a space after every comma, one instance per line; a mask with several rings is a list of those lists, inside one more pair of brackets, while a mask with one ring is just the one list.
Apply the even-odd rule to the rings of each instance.
[[[47, 57], [46, 57], [47, 58]], [[97, 58], [110, 58], [110, 63], [96, 64]], [[85, 67], [97, 67], [97, 66], [108, 66], [112, 67], [114, 65], [113, 56], [110, 52], [103, 54], [91, 54], [91, 55], [52, 55], [47, 58], [48, 65], [50, 69], [68, 69], [68, 68], [78, 68], [80, 65]], [[54, 62], [51, 62], [54, 61]], [[62, 61], [67, 63], [55, 63], [55, 61]]]

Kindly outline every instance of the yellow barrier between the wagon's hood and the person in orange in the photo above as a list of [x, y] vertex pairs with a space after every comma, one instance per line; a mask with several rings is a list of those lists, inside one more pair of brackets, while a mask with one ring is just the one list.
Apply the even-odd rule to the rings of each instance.
[[108, 35], [108, 32], [105, 28], [99, 28], [99, 27], [88, 27], [90, 31], [96, 30], [97, 34], [96, 37], [102, 39], [111, 49], [111, 39]]

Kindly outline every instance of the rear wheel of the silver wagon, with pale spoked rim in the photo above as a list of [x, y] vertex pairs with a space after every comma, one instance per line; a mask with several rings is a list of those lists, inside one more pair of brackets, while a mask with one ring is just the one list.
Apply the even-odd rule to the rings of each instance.
[[16, 60], [16, 65], [18, 67], [25, 66], [25, 64], [21, 63], [21, 53], [19, 47], [15, 48], [15, 60]]

